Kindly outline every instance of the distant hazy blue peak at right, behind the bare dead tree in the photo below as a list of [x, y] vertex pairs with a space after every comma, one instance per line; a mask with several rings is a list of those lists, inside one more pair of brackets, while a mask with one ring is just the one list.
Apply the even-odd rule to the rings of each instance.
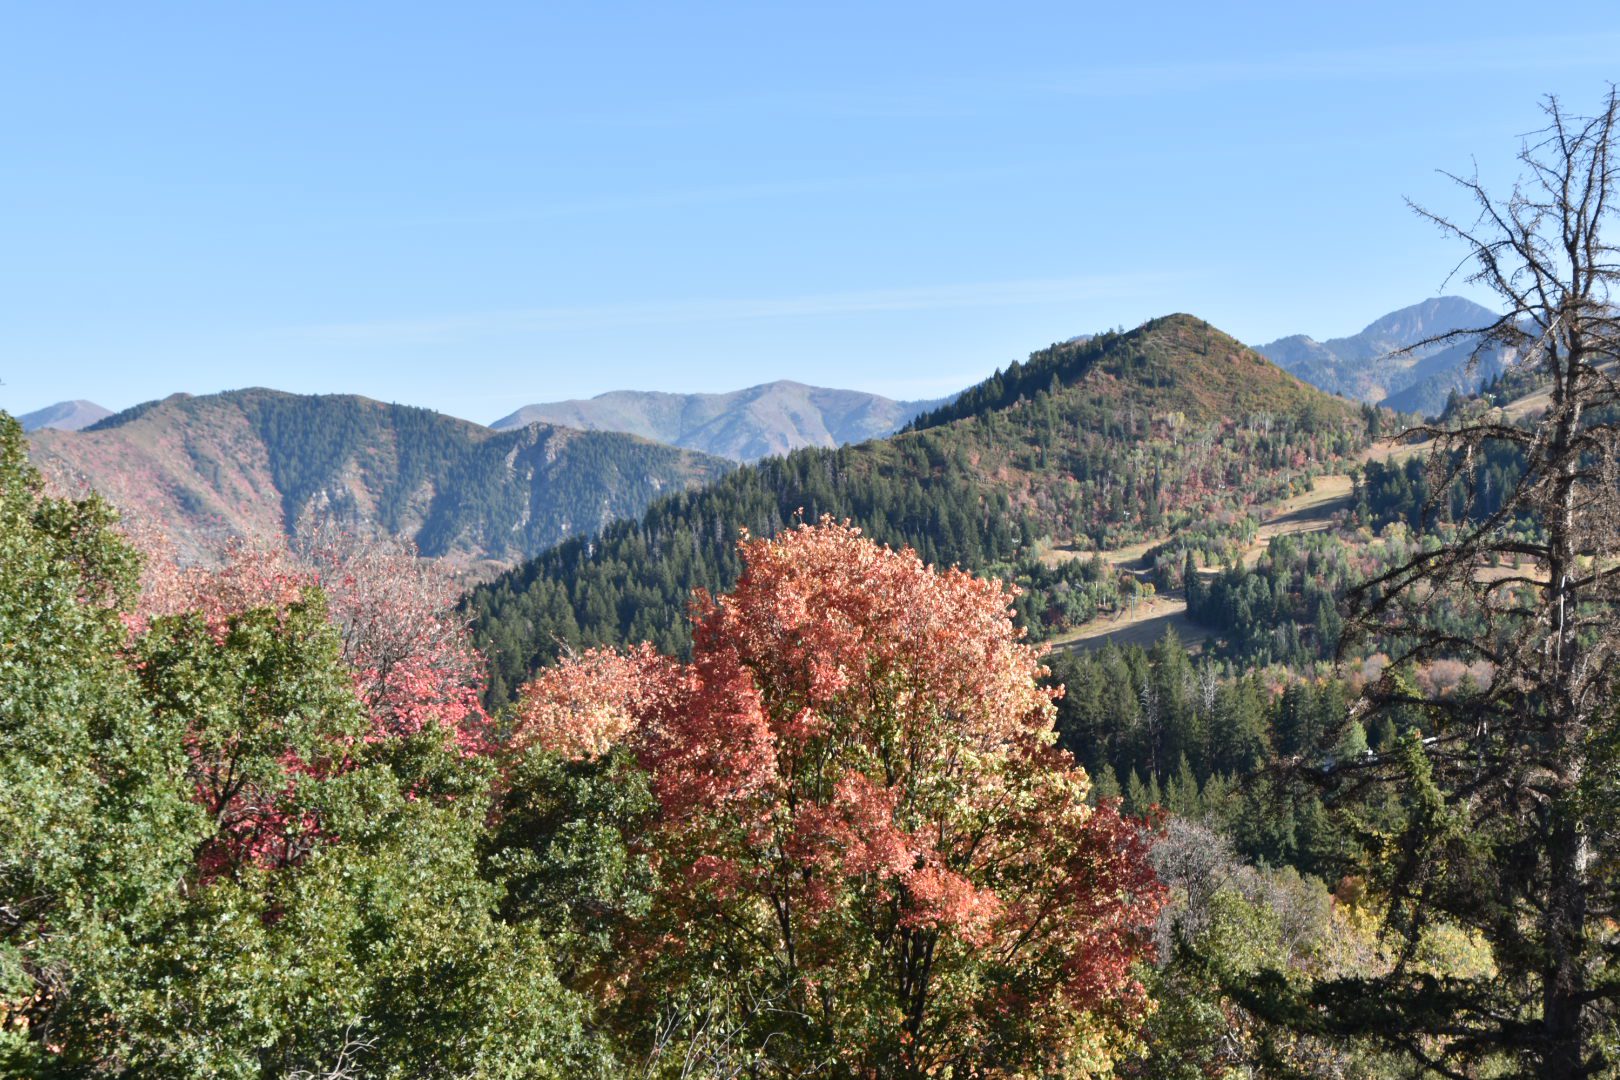
[[1437, 296], [1392, 311], [1351, 337], [1319, 342], [1294, 334], [1260, 345], [1259, 351], [1330, 393], [1432, 416], [1445, 408], [1452, 390], [1469, 393], [1497, 374], [1503, 358], [1492, 353], [1471, 371], [1471, 342], [1421, 342], [1487, 327], [1495, 319], [1489, 308], [1471, 300]]

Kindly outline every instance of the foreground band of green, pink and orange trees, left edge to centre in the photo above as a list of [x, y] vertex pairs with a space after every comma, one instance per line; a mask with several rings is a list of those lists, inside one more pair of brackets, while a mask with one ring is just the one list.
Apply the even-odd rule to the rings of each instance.
[[805, 526], [744, 552], [692, 664], [580, 654], [491, 717], [408, 552], [180, 567], [44, 497], [10, 418], [0, 526], [6, 1075], [1090, 1072], [1136, 1041], [1149, 832], [1051, 748], [995, 583]]

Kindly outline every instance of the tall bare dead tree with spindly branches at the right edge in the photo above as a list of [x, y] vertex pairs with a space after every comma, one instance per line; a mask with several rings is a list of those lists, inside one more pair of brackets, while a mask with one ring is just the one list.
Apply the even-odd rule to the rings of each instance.
[[[1414, 429], [1434, 440], [1430, 500], [1461, 491], [1468, 513], [1437, 549], [1351, 594], [1346, 636], [1393, 643], [1395, 657], [1362, 708], [1398, 711], [1409, 732], [1332, 769], [1336, 784], [1383, 785], [1405, 811], [1371, 860], [1400, 960], [1372, 984], [1319, 984], [1293, 1002], [1299, 1023], [1371, 1035], [1447, 1077], [1567, 1080], [1617, 1065], [1604, 1043], [1620, 999], [1620, 102], [1610, 87], [1594, 117], [1557, 99], [1544, 110], [1505, 198], [1477, 173], [1452, 176], [1473, 223], [1414, 207], [1463, 241], [1468, 280], [1503, 304], [1494, 324], [1447, 337], [1474, 337], [1476, 361], [1511, 350], [1547, 406], [1479, 406]], [[1520, 471], [1486, 502], [1490, 457]], [[1502, 565], [1520, 568], [1484, 573]], [[1489, 685], [1418, 693], [1403, 674], [1439, 659], [1486, 661]], [[1494, 973], [1427, 970], [1419, 942], [1437, 923], [1487, 942]]]

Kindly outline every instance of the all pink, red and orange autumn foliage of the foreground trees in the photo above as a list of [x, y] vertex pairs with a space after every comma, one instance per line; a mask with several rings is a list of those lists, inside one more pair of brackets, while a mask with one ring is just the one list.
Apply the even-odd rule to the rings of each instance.
[[149, 562], [131, 631], [251, 657], [254, 625], [274, 643], [324, 620], [353, 680], [326, 709], [347, 727], [266, 745], [262, 767], [246, 729], [214, 737], [198, 712], [198, 800], [230, 840], [206, 876], [301, 858], [322, 827], [300, 784], [342, 774], [360, 743], [444, 732], [496, 777], [496, 831], [536, 755], [612, 758], [651, 792], [624, 826], [651, 895], [603, 913], [612, 947], [570, 976], [599, 1007], [653, 1017], [723, 978], [763, 1002], [748, 1038], [784, 1069], [1100, 1067], [1147, 1006], [1134, 968], [1165, 892], [1142, 823], [1092, 805], [1055, 746], [1061, 691], [1013, 594], [829, 520], [744, 538], [742, 555], [729, 594], [695, 597], [690, 661], [572, 654], [496, 721], [454, 594], [408, 552], [330, 539], [296, 560], [237, 546], [215, 570]]

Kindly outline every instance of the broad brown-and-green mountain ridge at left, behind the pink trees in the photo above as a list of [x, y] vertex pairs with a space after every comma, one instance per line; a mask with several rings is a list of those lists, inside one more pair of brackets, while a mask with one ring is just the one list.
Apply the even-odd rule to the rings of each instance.
[[188, 554], [227, 536], [295, 536], [322, 517], [410, 539], [424, 555], [510, 563], [731, 468], [633, 436], [496, 432], [423, 408], [275, 390], [173, 395], [29, 442], [47, 474], [89, 484]]

